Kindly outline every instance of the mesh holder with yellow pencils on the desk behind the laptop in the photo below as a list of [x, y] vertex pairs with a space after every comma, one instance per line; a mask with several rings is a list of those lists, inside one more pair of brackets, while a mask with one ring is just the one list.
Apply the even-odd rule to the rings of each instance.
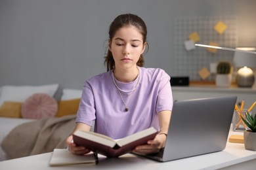
[[[246, 113], [247, 109], [239, 111], [245, 118], [245, 113]], [[251, 112], [249, 112], [249, 114], [251, 114]], [[244, 131], [247, 127], [242, 118], [240, 117], [240, 115], [238, 114], [238, 111], [234, 111], [234, 115], [233, 115], [233, 119], [232, 119], [232, 127], [233, 127], [233, 131]]]

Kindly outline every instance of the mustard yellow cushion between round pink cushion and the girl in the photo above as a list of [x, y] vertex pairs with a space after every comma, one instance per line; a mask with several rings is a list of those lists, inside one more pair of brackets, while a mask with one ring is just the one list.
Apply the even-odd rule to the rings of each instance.
[[58, 101], [58, 112], [56, 117], [76, 114], [79, 107], [80, 99], [70, 99]]

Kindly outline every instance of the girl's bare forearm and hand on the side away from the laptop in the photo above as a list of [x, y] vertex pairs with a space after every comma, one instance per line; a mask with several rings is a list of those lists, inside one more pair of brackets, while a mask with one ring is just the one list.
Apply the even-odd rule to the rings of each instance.
[[[90, 131], [91, 126], [78, 122], [75, 125], [74, 131], [76, 131], [77, 129], [81, 129], [81, 130], [84, 130], [84, 131]], [[74, 131], [73, 131], [73, 133], [74, 133]], [[76, 144], [73, 143], [72, 134], [66, 139], [66, 144], [67, 144], [70, 152], [72, 152], [73, 154], [78, 154], [78, 155], [89, 153], [91, 150], [85, 148], [84, 146], [77, 146]]]

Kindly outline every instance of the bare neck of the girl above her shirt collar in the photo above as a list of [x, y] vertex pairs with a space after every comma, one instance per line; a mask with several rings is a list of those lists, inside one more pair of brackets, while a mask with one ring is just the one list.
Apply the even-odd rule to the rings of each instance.
[[137, 66], [130, 69], [114, 69], [114, 76], [119, 82], [133, 82], [139, 74]]

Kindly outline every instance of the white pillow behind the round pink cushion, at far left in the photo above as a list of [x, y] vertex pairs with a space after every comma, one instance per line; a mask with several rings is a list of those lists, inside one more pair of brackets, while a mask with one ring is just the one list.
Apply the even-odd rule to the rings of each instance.
[[1, 88], [0, 106], [5, 101], [24, 102], [35, 93], [47, 93], [53, 97], [58, 89], [58, 84], [48, 84], [43, 86], [3, 86]]

